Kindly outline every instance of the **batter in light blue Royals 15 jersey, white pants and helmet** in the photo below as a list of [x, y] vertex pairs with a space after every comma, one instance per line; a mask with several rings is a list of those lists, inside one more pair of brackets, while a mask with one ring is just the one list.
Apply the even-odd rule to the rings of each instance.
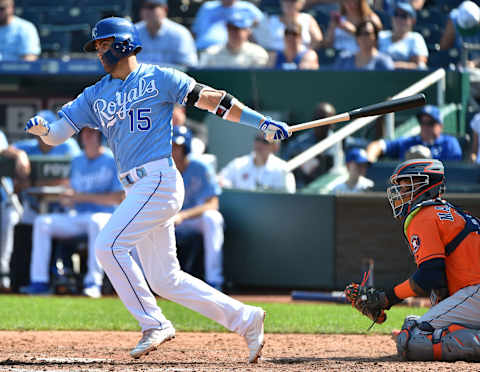
[[[115, 157], [126, 198], [96, 240], [96, 254], [121, 300], [138, 320], [143, 337], [131, 351], [138, 358], [175, 336], [147, 285], [245, 337], [249, 362], [264, 345], [263, 309], [244, 305], [182, 272], [176, 256], [174, 217], [184, 198], [172, 161], [172, 111], [176, 103], [208, 110], [224, 119], [262, 130], [269, 140], [289, 136], [288, 126], [265, 118], [225, 91], [188, 75], [139, 64], [141, 44], [132, 23], [106, 18], [92, 30], [84, 48], [97, 53], [108, 73], [59, 112], [53, 123], [30, 119], [25, 130], [51, 145], [83, 127], [99, 129]], [[136, 248], [142, 268], [132, 259]]]

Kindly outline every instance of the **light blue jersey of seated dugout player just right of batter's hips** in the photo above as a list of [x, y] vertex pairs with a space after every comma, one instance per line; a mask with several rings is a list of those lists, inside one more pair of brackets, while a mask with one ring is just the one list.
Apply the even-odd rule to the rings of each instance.
[[185, 184], [185, 200], [182, 209], [196, 207], [222, 192], [213, 168], [199, 160], [190, 160], [182, 177]]

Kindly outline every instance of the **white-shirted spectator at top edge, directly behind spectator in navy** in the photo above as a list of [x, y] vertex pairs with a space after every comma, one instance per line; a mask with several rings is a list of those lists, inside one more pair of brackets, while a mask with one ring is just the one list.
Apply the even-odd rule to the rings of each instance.
[[269, 51], [283, 50], [285, 27], [298, 23], [305, 47], [320, 47], [323, 41], [322, 30], [312, 15], [301, 12], [304, 5], [305, 0], [281, 0], [282, 14], [265, 17], [255, 29], [253, 36], [257, 43]]

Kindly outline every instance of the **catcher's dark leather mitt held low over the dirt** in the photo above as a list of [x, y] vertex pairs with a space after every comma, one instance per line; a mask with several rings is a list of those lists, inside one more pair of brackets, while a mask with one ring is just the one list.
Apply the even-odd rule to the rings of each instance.
[[384, 290], [351, 283], [345, 288], [345, 296], [354, 308], [374, 323], [381, 324], [387, 319], [388, 300]]

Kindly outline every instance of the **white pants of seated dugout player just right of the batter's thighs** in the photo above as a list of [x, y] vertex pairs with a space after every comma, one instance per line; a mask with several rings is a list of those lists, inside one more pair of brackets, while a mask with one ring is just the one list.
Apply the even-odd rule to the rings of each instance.
[[205, 252], [205, 280], [210, 284], [223, 284], [223, 217], [217, 210], [209, 210], [196, 218], [182, 221], [175, 226], [178, 232], [195, 231], [203, 236]]

